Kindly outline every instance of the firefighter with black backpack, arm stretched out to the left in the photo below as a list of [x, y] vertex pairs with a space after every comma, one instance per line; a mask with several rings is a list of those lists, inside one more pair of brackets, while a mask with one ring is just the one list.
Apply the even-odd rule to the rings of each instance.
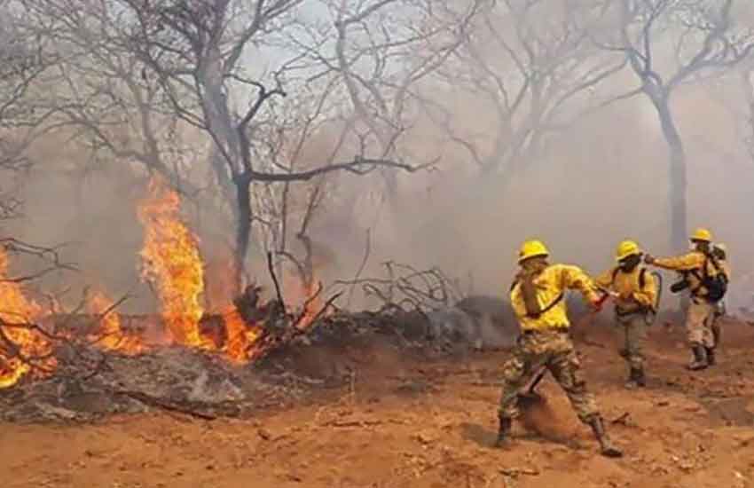
[[644, 261], [658, 268], [681, 272], [684, 277], [671, 290], [685, 289], [691, 294], [686, 327], [687, 338], [694, 357], [688, 369], [697, 371], [715, 362], [715, 338], [712, 321], [719, 301], [727, 290], [725, 273], [712, 255], [712, 235], [707, 229], [697, 229], [689, 238], [692, 250], [683, 256], [656, 258], [645, 256]]

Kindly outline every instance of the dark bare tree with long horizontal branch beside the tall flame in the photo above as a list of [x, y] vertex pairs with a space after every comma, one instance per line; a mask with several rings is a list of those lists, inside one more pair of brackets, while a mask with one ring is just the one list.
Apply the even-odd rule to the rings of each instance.
[[[206, 131], [215, 143], [216, 156], [211, 162], [216, 175], [235, 191], [239, 287], [255, 218], [252, 184], [307, 181], [336, 170], [364, 173], [376, 166], [413, 170], [411, 165], [363, 153], [298, 172], [276, 169], [270, 161], [256, 157], [255, 122], [272, 100], [287, 95], [286, 77], [298, 56], [266, 75], [250, 73], [244, 60], [252, 48], [271, 47], [280, 32], [294, 25], [301, 0], [116, 3], [135, 20], [122, 28], [122, 33], [144, 63], [145, 76], [160, 83], [178, 116]], [[249, 95], [249, 91], [255, 94]], [[234, 103], [234, 96], [247, 100], [240, 113], [235, 108], [243, 102]]]

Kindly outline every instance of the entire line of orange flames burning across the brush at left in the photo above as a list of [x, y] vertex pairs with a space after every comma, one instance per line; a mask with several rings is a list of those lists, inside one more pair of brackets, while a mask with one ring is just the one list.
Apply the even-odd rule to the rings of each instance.
[[[140, 202], [137, 216], [144, 227], [140, 254], [141, 277], [153, 287], [159, 300], [161, 327], [149, 334], [122, 327], [114, 301], [102, 291], [87, 296], [86, 311], [96, 327], [86, 332], [88, 342], [101, 350], [124, 355], [143, 354], [165, 345], [179, 345], [222, 355], [234, 364], [260, 357], [271, 342], [264, 332], [276, 301], [255, 304], [254, 317], [244, 315], [233, 303], [216, 312], [205, 310], [205, 265], [200, 241], [180, 215], [178, 194], [153, 179], [148, 196]], [[9, 259], [0, 248], [0, 389], [21, 378], [41, 378], [54, 372], [56, 336], [38, 327], [45, 315], [9, 272]], [[232, 272], [232, 266], [226, 266]], [[258, 291], [249, 287], [247, 292]], [[246, 295], [246, 294], [245, 294]], [[315, 319], [322, 304], [313, 289], [301, 292], [302, 311], [291, 321], [298, 330]]]

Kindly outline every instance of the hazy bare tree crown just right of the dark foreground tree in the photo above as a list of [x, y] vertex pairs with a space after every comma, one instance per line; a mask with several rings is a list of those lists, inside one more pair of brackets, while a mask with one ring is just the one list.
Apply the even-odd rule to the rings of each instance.
[[[418, 92], [459, 49], [471, 20], [486, 4], [330, 0], [327, 27], [299, 45], [317, 46], [306, 50], [317, 67], [313, 77], [330, 75], [343, 83], [357, 137], [372, 141], [382, 158], [399, 159], [406, 153], [401, 139], [416, 119]], [[395, 197], [395, 172], [383, 175], [389, 195]]]

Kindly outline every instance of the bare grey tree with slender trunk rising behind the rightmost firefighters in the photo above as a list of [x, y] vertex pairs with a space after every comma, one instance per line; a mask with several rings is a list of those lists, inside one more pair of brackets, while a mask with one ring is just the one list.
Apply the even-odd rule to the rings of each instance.
[[[687, 242], [686, 151], [672, 115], [672, 94], [700, 74], [719, 74], [754, 51], [750, 30], [736, 28], [734, 0], [615, 0], [620, 29], [617, 43], [601, 43], [624, 52], [643, 94], [655, 107], [670, 152], [671, 245]], [[676, 67], [663, 74], [659, 53], [672, 49]]]

